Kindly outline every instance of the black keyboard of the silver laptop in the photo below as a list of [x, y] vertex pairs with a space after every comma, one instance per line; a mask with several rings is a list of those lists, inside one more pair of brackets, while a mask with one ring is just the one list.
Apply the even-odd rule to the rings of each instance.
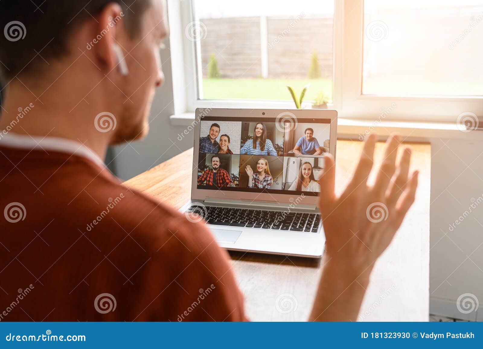
[[290, 230], [295, 232], [317, 233], [320, 215], [286, 211], [253, 210], [235, 207], [192, 205], [186, 212], [206, 213], [208, 224], [229, 225], [232, 227]]

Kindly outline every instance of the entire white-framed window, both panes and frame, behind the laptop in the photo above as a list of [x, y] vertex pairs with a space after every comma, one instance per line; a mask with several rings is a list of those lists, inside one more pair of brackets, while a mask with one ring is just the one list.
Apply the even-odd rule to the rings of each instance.
[[345, 118], [483, 116], [483, 0], [173, 0], [169, 12], [182, 18], [177, 114], [294, 108], [287, 86], [310, 84], [302, 107], [324, 97]]

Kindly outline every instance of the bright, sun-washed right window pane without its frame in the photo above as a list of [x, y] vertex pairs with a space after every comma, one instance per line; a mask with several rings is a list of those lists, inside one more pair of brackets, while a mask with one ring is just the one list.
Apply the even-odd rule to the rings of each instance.
[[362, 92], [483, 95], [482, 0], [365, 0]]

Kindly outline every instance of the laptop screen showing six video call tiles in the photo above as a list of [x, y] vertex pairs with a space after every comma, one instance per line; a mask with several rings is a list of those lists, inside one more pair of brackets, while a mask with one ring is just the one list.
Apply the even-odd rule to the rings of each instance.
[[205, 116], [198, 189], [315, 196], [329, 143], [330, 119]]

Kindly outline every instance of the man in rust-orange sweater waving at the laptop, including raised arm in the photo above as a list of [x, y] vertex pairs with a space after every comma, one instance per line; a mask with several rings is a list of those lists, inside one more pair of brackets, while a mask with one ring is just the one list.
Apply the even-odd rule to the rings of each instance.
[[[166, 5], [49, 0], [40, 14], [31, 1], [1, 6], [0, 28], [16, 21], [27, 32], [18, 40], [7, 38], [8, 29], [0, 35], [7, 86], [0, 308], [10, 309], [1, 320], [246, 320], [227, 252], [206, 226], [127, 189], [102, 163], [108, 145], [148, 131], [154, 90], [164, 80], [158, 49]], [[408, 175], [409, 150], [395, 163], [399, 140], [389, 138], [368, 186], [376, 141], [369, 135], [341, 197], [326, 156], [320, 209], [327, 250], [309, 320], [356, 320], [373, 263], [414, 200], [417, 173]], [[388, 207], [377, 224], [366, 217], [373, 202]], [[198, 305], [201, 293], [208, 295]]]

